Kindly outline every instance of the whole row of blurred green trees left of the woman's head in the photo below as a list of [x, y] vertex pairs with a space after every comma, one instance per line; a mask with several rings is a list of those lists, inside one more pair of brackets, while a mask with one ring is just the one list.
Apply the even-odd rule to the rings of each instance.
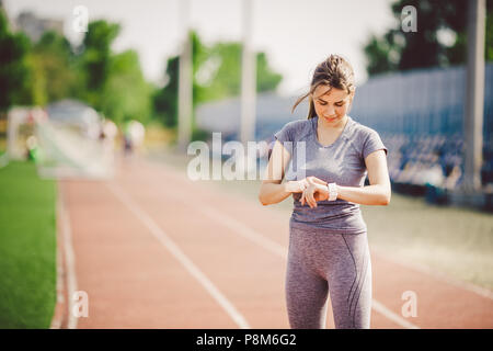
[[[87, 102], [105, 117], [123, 123], [158, 117], [165, 126], [177, 121], [179, 57], [167, 63], [168, 82], [156, 88], [145, 80], [135, 50], [113, 53], [121, 26], [105, 20], [90, 22], [79, 47], [56, 32], [37, 43], [11, 33], [0, 11], [0, 112], [13, 104], [46, 105], [66, 98]], [[240, 43], [204, 45], [191, 33], [193, 103], [237, 97], [241, 89]], [[256, 55], [256, 89], [276, 89], [282, 76], [271, 69], [264, 53]], [[194, 125], [194, 131], [197, 132]]]

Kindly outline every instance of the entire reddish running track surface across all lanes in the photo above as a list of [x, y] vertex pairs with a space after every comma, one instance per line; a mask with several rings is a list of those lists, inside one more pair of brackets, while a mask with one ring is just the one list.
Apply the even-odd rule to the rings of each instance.
[[[266, 248], [262, 248], [257, 242], [250, 239], [245, 239], [238, 233], [232, 233], [237, 230], [231, 230], [225, 226], [225, 223], [219, 220], [214, 220], [210, 216], [206, 215], [205, 211], [197, 211], [197, 204], [202, 205], [203, 208], [213, 208], [214, 211], [223, 213], [228, 218], [233, 218], [244, 226], [251, 228], [252, 231], [259, 233], [261, 236], [265, 237], [267, 240], [278, 245], [279, 247], [287, 248], [288, 245], [288, 220], [289, 216], [285, 216], [283, 213], [272, 210], [270, 207], [263, 207], [260, 204], [254, 204], [251, 201], [244, 199], [232, 196], [229, 194], [220, 193], [215, 189], [208, 188], [206, 184], [199, 182], [191, 182], [186, 177], [179, 171], [171, 169], [169, 167], [163, 167], [162, 165], [149, 163], [147, 161], [133, 161], [122, 165], [122, 172], [118, 173], [117, 179], [114, 181], [115, 184], [122, 186], [122, 189], [128, 193], [128, 195], [154, 220], [160, 228], [165, 233], [169, 233], [173, 240], [179, 245], [179, 247], [191, 258], [197, 267], [205, 272], [205, 274], [210, 279], [210, 281], [219, 287], [221, 292], [225, 293], [228, 299], [232, 302], [234, 306], [238, 307], [241, 314], [243, 314], [246, 320], [253, 328], [288, 328], [285, 299], [284, 299], [284, 274], [286, 269], [286, 262], [279, 254], [273, 254]], [[141, 224], [138, 223], [137, 218], [125, 218], [126, 216], [131, 217], [131, 214], [122, 208], [122, 203], [115, 206], [115, 196], [113, 199], [106, 199], [112, 196], [110, 191], [102, 189], [100, 183], [85, 183], [78, 182], [77, 185], [72, 184], [73, 189], [71, 200], [73, 201], [70, 206], [82, 206], [85, 210], [82, 214], [76, 215], [72, 226], [77, 226], [77, 230], [80, 231], [79, 227], [84, 226], [83, 218], [93, 218], [94, 223], [98, 223], [98, 228], [93, 228], [99, 233], [106, 233], [115, 230], [115, 227], [111, 228], [108, 223], [118, 223], [124, 218], [124, 223], [133, 223], [130, 225], [118, 224], [118, 228], [124, 226], [123, 229], [128, 230], [127, 234], [123, 235], [134, 237], [131, 231], [140, 231], [139, 239], [142, 240], [144, 236], [147, 236], [149, 240], [149, 233], [144, 234], [146, 229], [142, 229]], [[91, 194], [91, 195], [89, 195]], [[102, 197], [102, 199], [100, 199]], [[177, 199], [185, 199], [185, 204], [180, 204]], [[94, 201], [95, 199], [100, 199]], [[93, 203], [92, 206], [90, 203]], [[96, 205], [94, 206], [94, 202]], [[104, 207], [104, 208], [103, 208]], [[118, 208], [111, 211], [105, 210], [105, 207], [116, 207]], [[70, 208], [71, 211], [72, 208]], [[80, 217], [80, 218], [79, 218]], [[112, 218], [112, 220], [110, 220]], [[93, 264], [91, 265], [91, 260], [88, 260], [88, 253], [84, 251], [93, 250], [95, 239], [103, 238], [104, 241], [118, 240], [121, 236], [118, 235], [94, 235], [88, 234], [89, 230], [82, 230], [85, 234], [78, 234], [77, 242], [74, 246], [78, 248], [76, 250], [76, 259], [78, 275], [87, 275], [83, 271], [98, 272]], [[197, 235], [200, 233], [200, 235]], [[88, 238], [89, 242], [84, 247], [84, 240], [81, 238]], [[76, 241], [76, 240], [74, 240]], [[93, 241], [93, 242], [91, 242]], [[105, 245], [108, 245], [106, 242]], [[131, 261], [139, 261], [139, 254], [146, 254], [146, 252], [153, 251], [151, 256], [163, 256], [167, 259], [152, 260], [153, 264], [151, 267], [161, 265], [162, 275], [159, 275], [158, 280], [161, 283], [157, 283], [154, 288], [169, 288], [173, 291], [174, 298], [176, 302], [183, 303], [183, 301], [188, 299], [194, 308], [184, 307], [185, 310], [190, 313], [183, 314], [180, 312], [180, 307], [186, 304], [180, 304], [168, 306], [167, 304], [160, 305], [159, 301], [162, 298], [164, 301], [173, 301], [173, 297], [163, 294], [159, 296], [159, 293], [153, 294], [157, 304], [154, 308], [146, 308], [146, 303], [138, 302], [138, 296], [131, 296], [136, 293], [134, 288], [129, 288], [133, 293], [128, 293], [127, 298], [133, 301], [131, 306], [140, 306], [140, 314], [150, 314], [152, 317], [138, 317], [137, 319], [141, 321], [140, 325], [146, 325], [145, 327], [154, 328], [184, 328], [183, 326], [196, 326], [197, 328], [237, 328], [238, 326], [231, 321], [231, 318], [226, 314], [221, 313], [217, 303], [210, 301], [210, 297], [204, 298], [206, 293], [202, 286], [197, 287], [195, 282], [195, 287], [198, 290], [196, 295], [186, 295], [190, 293], [188, 284], [183, 281], [187, 281], [191, 285], [192, 278], [190, 273], [184, 272], [183, 268], [176, 269], [181, 275], [187, 275], [183, 278], [182, 281], [176, 276], [173, 276], [172, 267], [173, 259], [169, 257], [168, 253], [161, 248], [156, 249], [156, 240], [152, 244], [148, 244], [148, 248], [140, 251], [140, 253], [125, 251], [125, 245], [118, 244], [114, 247], [115, 251], [124, 251], [126, 257], [134, 257]], [[153, 247], [153, 249], [151, 248]], [[371, 249], [371, 247], [370, 247]], [[82, 261], [79, 262], [79, 253], [82, 252]], [[111, 250], [107, 248], [100, 250], [105, 254], [119, 256], [121, 253], [110, 253]], [[128, 253], [128, 254], [127, 254]], [[90, 256], [89, 256], [90, 257]], [[93, 257], [95, 261], [100, 260], [99, 256]], [[104, 254], [102, 256], [104, 257]], [[98, 259], [96, 259], [98, 258]], [[114, 261], [116, 259], [107, 259], [106, 261]], [[146, 259], [145, 259], [146, 260]], [[162, 261], [164, 260], [164, 261]], [[419, 316], [417, 318], [408, 318], [408, 320], [421, 328], [491, 328], [493, 326], [492, 321], [492, 305], [491, 299], [481, 298], [477, 294], [461, 290], [458, 286], [452, 286], [445, 282], [437, 280], [434, 276], [424, 274], [416, 270], [412, 270], [409, 267], [400, 265], [391, 260], [386, 259], [379, 253], [371, 251], [372, 260], [372, 271], [374, 271], [374, 298], [386, 306], [391, 313], [395, 315], [401, 314], [401, 307], [404, 303], [401, 295], [404, 291], [411, 290], [417, 294], [419, 303]], [[104, 260], [103, 260], [104, 261]], [[175, 261], [175, 260], [174, 260]], [[107, 262], [106, 262], [107, 263]], [[103, 263], [100, 263], [104, 265]], [[163, 265], [164, 264], [164, 265]], [[174, 262], [176, 264], [176, 262]], [[83, 269], [80, 268], [83, 267]], [[115, 274], [121, 274], [117, 271], [131, 271], [131, 264], [122, 265], [118, 268], [116, 264], [113, 267]], [[148, 265], [141, 267], [140, 274], [146, 275]], [[152, 268], [150, 268], [152, 271]], [[107, 272], [107, 270], [106, 270]], [[98, 275], [98, 274], [96, 274]], [[104, 274], [100, 274], [104, 275]], [[129, 281], [134, 280], [136, 282], [141, 281], [139, 273], [134, 273]], [[147, 275], [149, 278], [149, 275]], [[85, 278], [84, 278], [85, 280]], [[170, 283], [168, 283], [170, 280]], [[80, 278], [79, 278], [80, 281]], [[100, 278], [96, 282], [103, 285], [110, 285], [108, 281]], [[182, 283], [182, 284], [180, 284]], [[118, 284], [113, 281], [113, 284]], [[146, 284], [150, 284], [147, 282]], [[81, 284], [80, 284], [81, 285]], [[164, 287], [164, 285], [167, 287]], [[81, 290], [82, 286], [80, 286]], [[100, 286], [99, 288], [93, 288], [90, 293], [91, 296], [96, 296], [103, 294], [110, 295], [105, 290], [112, 291], [111, 286], [105, 288]], [[118, 288], [115, 288], [116, 291]], [[139, 291], [139, 290], [137, 290]], [[185, 292], [182, 294], [182, 292]], [[146, 294], [144, 294], [146, 295]], [[455, 298], [455, 297], [459, 298]], [[98, 303], [99, 297], [96, 298]], [[137, 301], [134, 301], [137, 299]], [[209, 301], [208, 301], [209, 299]], [[210, 307], [210, 314], [204, 313], [203, 302], [205, 302], [206, 310]], [[330, 304], [330, 301], [329, 301]], [[114, 304], [113, 304], [114, 305]], [[99, 309], [95, 309], [98, 314], [101, 314], [101, 320], [93, 317], [92, 325], [104, 326], [106, 325], [115, 327], [115, 322], [122, 322], [122, 320], [108, 318], [108, 313], [111, 308], [104, 308], [104, 306], [95, 305]], [[173, 308], [177, 307], [177, 308]], [[188, 306], [190, 307], [190, 306]], [[331, 307], [331, 306], [329, 306]], [[91, 310], [94, 308], [91, 305]], [[113, 307], [114, 308], [114, 307]], [[134, 309], [131, 307], [130, 309]], [[219, 312], [216, 312], [218, 309]], [[127, 309], [128, 312], [129, 309]], [[149, 312], [150, 310], [150, 312]], [[157, 310], [165, 310], [164, 314], [159, 314]], [[129, 315], [131, 313], [128, 312]], [[105, 317], [103, 317], [105, 315]], [[177, 316], [175, 318], [175, 315]], [[193, 322], [183, 318], [187, 315], [188, 319], [191, 316], [204, 317], [202, 320], [195, 319]], [[183, 319], [180, 319], [180, 318]], [[90, 317], [91, 318], [91, 317]], [[88, 318], [88, 320], [90, 319]], [[94, 319], [95, 318], [95, 319]], [[105, 319], [106, 318], [106, 319]], [[135, 318], [135, 317], [133, 317]], [[218, 318], [218, 319], [216, 319]], [[225, 320], [226, 319], [226, 320]], [[88, 321], [87, 320], [87, 321]], [[105, 321], [103, 321], [105, 320]], [[148, 324], [152, 320], [151, 324]], [[220, 321], [218, 321], [220, 320]], [[84, 320], [80, 320], [81, 327], [91, 326]], [[127, 324], [135, 325], [135, 324]], [[216, 327], [219, 325], [219, 327]], [[225, 327], [229, 325], [229, 327]], [[333, 328], [333, 318], [331, 314], [331, 308], [328, 313], [328, 327]], [[103, 327], [104, 328], [104, 327]], [[402, 324], [397, 324], [389, 319], [381, 312], [376, 312], [375, 304], [374, 310], [371, 313], [371, 328], [402, 328]]]

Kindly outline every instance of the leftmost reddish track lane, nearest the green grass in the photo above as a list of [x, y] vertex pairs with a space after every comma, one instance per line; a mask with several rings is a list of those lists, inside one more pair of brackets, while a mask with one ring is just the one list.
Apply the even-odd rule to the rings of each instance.
[[64, 182], [78, 288], [79, 328], [237, 328], [196, 280], [101, 182]]

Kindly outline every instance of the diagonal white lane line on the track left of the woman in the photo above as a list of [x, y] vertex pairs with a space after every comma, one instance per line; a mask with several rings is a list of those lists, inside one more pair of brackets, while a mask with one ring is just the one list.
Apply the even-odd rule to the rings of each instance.
[[118, 185], [106, 183], [110, 190], [124, 203], [134, 215], [139, 218], [149, 231], [174, 256], [180, 263], [205, 287], [213, 298], [226, 310], [226, 313], [242, 329], [251, 329], [246, 319], [229, 302], [229, 299], [214, 285], [214, 283], [186, 257], [176, 244], [144, 212], [130, 196], [128, 196]]

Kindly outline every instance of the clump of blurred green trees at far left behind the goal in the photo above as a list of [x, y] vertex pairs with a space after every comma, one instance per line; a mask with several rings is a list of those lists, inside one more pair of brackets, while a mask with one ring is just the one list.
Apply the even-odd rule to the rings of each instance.
[[101, 20], [89, 24], [77, 55], [55, 32], [44, 33], [31, 48], [25, 35], [8, 31], [0, 11], [0, 111], [14, 103], [43, 105], [73, 97], [117, 123], [148, 122], [152, 88], [136, 52], [112, 53], [118, 32], [119, 25]]

